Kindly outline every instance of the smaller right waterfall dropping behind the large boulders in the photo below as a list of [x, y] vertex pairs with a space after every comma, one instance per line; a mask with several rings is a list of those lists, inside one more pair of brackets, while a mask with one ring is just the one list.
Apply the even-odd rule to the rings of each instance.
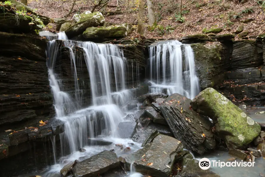
[[151, 93], [178, 93], [193, 99], [200, 92], [190, 45], [177, 40], [158, 42], [149, 46], [149, 54]]

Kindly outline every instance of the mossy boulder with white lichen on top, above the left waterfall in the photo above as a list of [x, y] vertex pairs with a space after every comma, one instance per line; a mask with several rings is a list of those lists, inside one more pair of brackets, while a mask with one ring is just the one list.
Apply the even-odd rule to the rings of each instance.
[[89, 27], [103, 26], [105, 18], [100, 12], [80, 14], [80, 20], [65, 30], [65, 34], [72, 38], [82, 34]]

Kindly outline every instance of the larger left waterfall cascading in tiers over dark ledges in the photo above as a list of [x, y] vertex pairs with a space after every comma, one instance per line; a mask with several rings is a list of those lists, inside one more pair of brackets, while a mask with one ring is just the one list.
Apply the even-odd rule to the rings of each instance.
[[[67, 39], [64, 33], [58, 35], [60, 39]], [[63, 47], [69, 52], [74, 91], [69, 91], [63, 85], [64, 73], [56, 69]], [[78, 50], [83, 50], [83, 57], [77, 54]], [[86, 146], [88, 138], [97, 137], [102, 132], [115, 136], [117, 125], [125, 117], [122, 106], [132, 99], [131, 91], [126, 89], [127, 60], [122, 50], [112, 44], [52, 40], [47, 47], [47, 57], [56, 118], [64, 122], [61, 146], [69, 147], [73, 153]], [[86, 71], [82, 69], [84, 67]], [[84, 78], [85, 74], [89, 78]], [[90, 83], [86, 83], [85, 79], [89, 79]], [[91, 106], [83, 104], [84, 87], [88, 84]]]

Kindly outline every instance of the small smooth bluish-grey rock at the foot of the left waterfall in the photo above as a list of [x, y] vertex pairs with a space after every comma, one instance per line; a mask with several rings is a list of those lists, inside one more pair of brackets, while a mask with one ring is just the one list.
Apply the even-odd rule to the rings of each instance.
[[120, 122], [117, 127], [117, 133], [121, 138], [132, 138], [136, 132], [136, 122]]

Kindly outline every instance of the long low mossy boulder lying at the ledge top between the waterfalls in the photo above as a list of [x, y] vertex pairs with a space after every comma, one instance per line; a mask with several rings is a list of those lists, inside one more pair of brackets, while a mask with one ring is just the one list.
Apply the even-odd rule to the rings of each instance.
[[111, 37], [125, 37], [132, 30], [132, 24], [125, 23], [110, 27], [89, 27], [83, 32], [85, 38], [111, 38]]

